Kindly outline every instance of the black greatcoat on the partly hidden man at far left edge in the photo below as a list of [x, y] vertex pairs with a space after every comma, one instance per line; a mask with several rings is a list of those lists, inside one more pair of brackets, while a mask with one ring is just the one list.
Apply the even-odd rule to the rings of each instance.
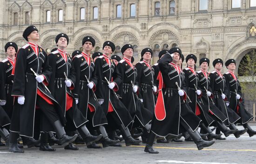
[[0, 100], [5, 101], [6, 105], [2, 107], [6, 111], [9, 118], [12, 118], [13, 113], [13, 61], [10, 58], [0, 62]]

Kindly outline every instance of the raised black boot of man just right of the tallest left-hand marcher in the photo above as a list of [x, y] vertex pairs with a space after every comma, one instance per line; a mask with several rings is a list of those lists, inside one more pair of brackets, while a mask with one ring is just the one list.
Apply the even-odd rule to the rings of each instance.
[[88, 146], [93, 142], [99, 141], [102, 138], [102, 135], [93, 136], [90, 134], [89, 130], [85, 125], [80, 126], [77, 131], [80, 133], [81, 137], [85, 141], [85, 144]]

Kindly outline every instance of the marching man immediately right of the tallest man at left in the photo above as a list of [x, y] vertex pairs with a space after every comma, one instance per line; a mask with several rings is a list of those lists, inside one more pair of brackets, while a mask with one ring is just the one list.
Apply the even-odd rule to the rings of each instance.
[[[72, 66], [72, 59], [66, 53], [69, 38], [67, 34], [60, 33], [56, 36], [55, 42], [58, 46], [57, 51], [48, 55], [49, 66], [52, 67], [52, 75], [49, 81], [49, 90], [54, 95], [56, 101], [61, 105], [67, 124], [67, 132], [71, 135], [72, 131], [78, 130], [79, 134], [87, 145], [101, 139], [101, 135], [92, 136], [88, 131], [85, 123], [88, 121], [83, 117], [77, 108], [76, 101], [70, 90], [75, 87], [75, 72]], [[78, 65], [80, 66], [80, 65]], [[78, 150], [72, 143], [65, 146], [67, 150]]]

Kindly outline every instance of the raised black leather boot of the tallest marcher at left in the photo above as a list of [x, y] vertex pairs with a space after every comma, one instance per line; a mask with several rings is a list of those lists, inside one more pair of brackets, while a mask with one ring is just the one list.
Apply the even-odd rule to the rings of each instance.
[[72, 143], [75, 138], [77, 137], [77, 134], [74, 134], [74, 136], [70, 137], [66, 135], [66, 132], [64, 131], [64, 127], [61, 125], [61, 121], [57, 120], [54, 122], [54, 128], [57, 133], [58, 138], [60, 139], [59, 144], [66, 145], [68, 143]]

